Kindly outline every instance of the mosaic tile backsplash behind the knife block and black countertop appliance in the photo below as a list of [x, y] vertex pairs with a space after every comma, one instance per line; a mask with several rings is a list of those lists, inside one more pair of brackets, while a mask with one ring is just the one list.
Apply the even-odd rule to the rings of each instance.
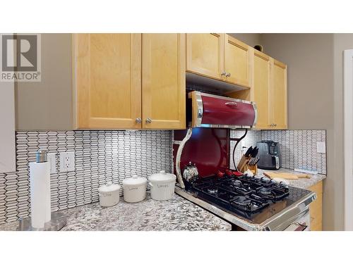
[[[239, 138], [243, 134], [244, 130], [232, 130], [230, 137]], [[318, 173], [326, 174], [326, 154], [316, 151], [316, 142], [326, 142], [325, 130], [250, 130], [237, 146], [234, 154], [236, 164], [241, 157], [242, 146], [256, 146], [256, 142], [261, 140], [279, 142], [282, 168], [317, 170]], [[230, 142], [231, 150], [234, 144], [234, 141]], [[232, 151], [230, 164], [234, 168]]]

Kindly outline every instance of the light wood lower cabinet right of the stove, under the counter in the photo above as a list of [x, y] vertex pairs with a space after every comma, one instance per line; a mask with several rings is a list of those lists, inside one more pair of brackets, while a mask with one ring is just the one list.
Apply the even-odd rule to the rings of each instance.
[[316, 192], [316, 200], [310, 203], [310, 230], [323, 230], [323, 181], [309, 187], [310, 191]]

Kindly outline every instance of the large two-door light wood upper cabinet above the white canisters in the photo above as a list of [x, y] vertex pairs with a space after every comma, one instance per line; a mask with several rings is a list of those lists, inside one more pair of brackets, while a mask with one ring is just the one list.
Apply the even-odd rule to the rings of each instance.
[[74, 34], [74, 128], [185, 128], [185, 56], [185, 34]]

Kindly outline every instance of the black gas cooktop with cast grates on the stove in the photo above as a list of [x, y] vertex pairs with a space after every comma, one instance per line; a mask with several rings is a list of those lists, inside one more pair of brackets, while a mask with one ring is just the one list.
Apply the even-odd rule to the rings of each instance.
[[252, 225], [265, 222], [311, 193], [266, 177], [248, 175], [198, 178], [186, 191]]

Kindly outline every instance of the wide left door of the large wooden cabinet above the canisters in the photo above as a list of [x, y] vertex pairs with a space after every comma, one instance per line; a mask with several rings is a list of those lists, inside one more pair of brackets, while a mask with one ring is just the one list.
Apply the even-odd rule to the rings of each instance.
[[76, 34], [74, 41], [76, 128], [141, 128], [141, 34]]

